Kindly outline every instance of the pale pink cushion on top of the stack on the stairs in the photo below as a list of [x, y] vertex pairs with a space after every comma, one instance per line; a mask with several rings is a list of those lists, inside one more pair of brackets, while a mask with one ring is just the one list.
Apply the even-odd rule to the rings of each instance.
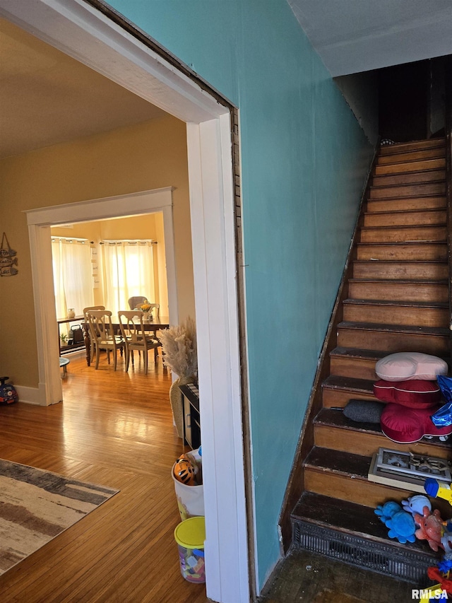
[[420, 352], [398, 352], [381, 358], [375, 372], [386, 381], [410, 379], [436, 380], [437, 375], [447, 375], [447, 363], [441, 358]]

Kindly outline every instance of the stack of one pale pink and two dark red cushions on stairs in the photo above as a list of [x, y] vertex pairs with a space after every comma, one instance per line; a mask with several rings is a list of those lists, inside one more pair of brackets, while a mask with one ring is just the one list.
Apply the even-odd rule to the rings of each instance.
[[430, 418], [444, 404], [436, 377], [447, 371], [444, 360], [420, 352], [394, 353], [376, 363], [374, 395], [387, 403], [380, 424], [390, 440], [413, 443], [452, 433], [452, 426], [438, 428]]

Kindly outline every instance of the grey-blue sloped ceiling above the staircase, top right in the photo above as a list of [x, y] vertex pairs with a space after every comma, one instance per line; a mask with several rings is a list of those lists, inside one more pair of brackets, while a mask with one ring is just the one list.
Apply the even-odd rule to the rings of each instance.
[[452, 54], [452, 0], [287, 0], [333, 77]]

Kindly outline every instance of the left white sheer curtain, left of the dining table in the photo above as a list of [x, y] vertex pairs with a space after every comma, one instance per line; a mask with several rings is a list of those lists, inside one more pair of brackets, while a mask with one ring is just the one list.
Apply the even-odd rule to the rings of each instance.
[[90, 242], [52, 238], [52, 262], [57, 318], [65, 318], [68, 308], [81, 315], [94, 305]]

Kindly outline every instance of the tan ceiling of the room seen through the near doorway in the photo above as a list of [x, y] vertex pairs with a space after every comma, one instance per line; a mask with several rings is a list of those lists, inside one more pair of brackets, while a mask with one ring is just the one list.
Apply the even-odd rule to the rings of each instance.
[[165, 112], [0, 18], [0, 158]]

